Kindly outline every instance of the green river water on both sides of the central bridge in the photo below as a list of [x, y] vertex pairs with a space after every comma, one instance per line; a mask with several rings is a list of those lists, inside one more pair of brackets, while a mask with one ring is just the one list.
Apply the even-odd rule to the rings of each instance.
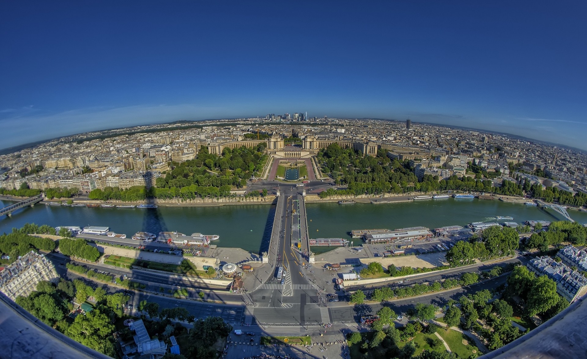
[[[12, 202], [2, 202], [1, 206]], [[0, 218], [0, 233], [10, 232], [26, 222], [50, 226], [109, 226], [111, 231], [132, 236], [138, 231], [176, 231], [220, 235], [213, 243], [258, 252], [268, 238], [274, 206], [225, 205], [217, 207], [165, 207], [157, 209], [57, 207], [37, 204]], [[483, 199], [436, 199], [399, 204], [306, 205], [311, 238], [350, 239], [352, 229], [430, 229], [471, 222], [491, 222], [495, 216], [512, 216], [514, 222], [556, 221], [561, 216], [551, 209]], [[569, 211], [579, 223], [587, 223], [587, 212]], [[357, 239], [355, 239], [355, 244]]]

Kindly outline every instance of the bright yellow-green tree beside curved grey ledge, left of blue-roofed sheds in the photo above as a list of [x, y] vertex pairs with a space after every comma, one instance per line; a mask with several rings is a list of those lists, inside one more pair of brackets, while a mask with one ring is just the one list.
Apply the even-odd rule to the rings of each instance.
[[114, 324], [110, 324], [109, 317], [94, 309], [85, 315], [77, 316], [65, 334], [86, 347], [114, 355], [113, 345], [108, 340], [113, 331]]

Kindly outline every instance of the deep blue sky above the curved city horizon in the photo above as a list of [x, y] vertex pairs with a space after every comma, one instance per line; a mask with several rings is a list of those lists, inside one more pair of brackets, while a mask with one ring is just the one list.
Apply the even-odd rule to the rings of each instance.
[[587, 150], [586, 14], [584, 1], [5, 1], [0, 147], [308, 111]]

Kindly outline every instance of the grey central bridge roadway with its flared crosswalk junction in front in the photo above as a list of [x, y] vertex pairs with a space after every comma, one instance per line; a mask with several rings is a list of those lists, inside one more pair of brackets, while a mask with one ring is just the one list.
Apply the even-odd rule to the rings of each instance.
[[[269, 275], [265, 283], [249, 293], [254, 303], [249, 308], [249, 315], [254, 315], [258, 323], [265, 325], [308, 327], [330, 323], [328, 308], [319, 305], [325, 303], [324, 294], [306, 278], [304, 265], [307, 262], [294, 250], [301, 237], [308, 238], [307, 230], [301, 234], [300, 222], [305, 221], [305, 213], [300, 214], [300, 209], [304, 208], [300, 206], [302, 189], [280, 185], [279, 191], [274, 221], [276, 236], [272, 236], [269, 253], [269, 261], [275, 265], [271, 267], [272, 272], [265, 273]], [[275, 231], [276, 227], [278, 231]], [[285, 269], [284, 284], [276, 277], [278, 267]]]

